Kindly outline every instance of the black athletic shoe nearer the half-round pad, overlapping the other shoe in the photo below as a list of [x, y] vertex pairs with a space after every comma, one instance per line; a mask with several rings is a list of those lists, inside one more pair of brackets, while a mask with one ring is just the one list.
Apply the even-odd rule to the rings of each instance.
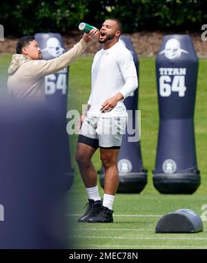
[[105, 206], [102, 206], [101, 210], [99, 211], [99, 214], [95, 215], [94, 217], [90, 217], [88, 219], [88, 223], [112, 223], [113, 212], [114, 211], [106, 208]]

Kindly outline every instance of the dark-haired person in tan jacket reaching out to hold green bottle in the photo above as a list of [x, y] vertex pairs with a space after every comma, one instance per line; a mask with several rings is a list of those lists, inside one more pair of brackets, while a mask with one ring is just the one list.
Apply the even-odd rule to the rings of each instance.
[[8, 93], [18, 100], [44, 101], [45, 76], [56, 73], [71, 64], [85, 51], [89, 42], [97, 36], [95, 30], [83, 34], [79, 43], [70, 51], [52, 60], [41, 60], [41, 49], [34, 37], [22, 37], [16, 45], [8, 68]]

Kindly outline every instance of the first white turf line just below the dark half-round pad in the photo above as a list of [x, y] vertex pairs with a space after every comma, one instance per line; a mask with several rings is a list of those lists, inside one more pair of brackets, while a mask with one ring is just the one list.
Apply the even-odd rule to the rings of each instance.
[[160, 240], [207, 240], [207, 237], [96, 237], [96, 236], [77, 236], [78, 238], [98, 238], [98, 239], [160, 239]]

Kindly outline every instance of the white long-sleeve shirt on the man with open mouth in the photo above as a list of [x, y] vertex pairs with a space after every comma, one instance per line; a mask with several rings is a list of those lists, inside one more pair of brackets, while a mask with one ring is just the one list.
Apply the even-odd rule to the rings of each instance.
[[101, 117], [127, 116], [124, 100], [119, 100], [112, 111], [101, 114], [103, 102], [120, 92], [124, 99], [137, 89], [137, 71], [132, 54], [117, 42], [97, 52], [92, 63], [91, 93], [88, 114]]

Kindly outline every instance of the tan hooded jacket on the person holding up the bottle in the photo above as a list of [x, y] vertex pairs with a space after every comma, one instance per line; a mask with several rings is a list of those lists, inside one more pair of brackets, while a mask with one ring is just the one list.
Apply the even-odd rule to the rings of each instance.
[[71, 64], [87, 46], [81, 39], [70, 51], [52, 60], [31, 60], [26, 55], [13, 55], [8, 68], [8, 93], [16, 99], [45, 100], [44, 77]]

